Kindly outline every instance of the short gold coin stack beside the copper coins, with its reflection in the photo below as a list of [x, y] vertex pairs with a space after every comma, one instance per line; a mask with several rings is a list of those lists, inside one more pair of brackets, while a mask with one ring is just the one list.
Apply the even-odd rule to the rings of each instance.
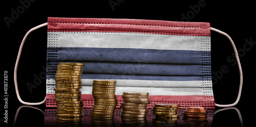
[[153, 114], [155, 118], [152, 119], [154, 126], [177, 126], [177, 120], [180, 115], [177, 115], [178, 104], [155, 104], [153, 107]]

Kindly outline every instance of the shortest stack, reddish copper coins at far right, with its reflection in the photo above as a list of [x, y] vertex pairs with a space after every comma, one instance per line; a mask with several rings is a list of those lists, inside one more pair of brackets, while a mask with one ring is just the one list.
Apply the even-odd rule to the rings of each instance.
[[187, 107], [183, 112], [183, 120], [189, 126], [205, 126], [208, 111], [204, 107]]

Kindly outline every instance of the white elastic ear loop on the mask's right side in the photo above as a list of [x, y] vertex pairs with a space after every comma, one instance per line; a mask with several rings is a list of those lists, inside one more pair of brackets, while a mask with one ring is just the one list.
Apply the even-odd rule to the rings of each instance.
[[225, 36], [229, 39], [229, 41], [231, 42], [232, 47], [233, 47], [233, 49], [234, 49], [234, 54], [236, 55], [236, 59], [237, 59], [237, 62], [238, 62], [238, 68], [239, 68], [239, 72], [240, 72], [240, 85], [239, 85], [239, 91], [238, 91], [237, 100], [236, 100], [233, 104], [229, 104], [229, 105], [219, 105], [219, 104], [215, 104], [215, 106], [218, 106], [218, 107], [232, 107], [232, 106], [235, 106], [235, 105], [238, 104], [239, 99], [240, 99], [240, 97], [241, 97], [241, 91], [242, 91], [242, 86], [243, 86], [243, 72], [242, 72], [242, 67], [241, 67], [241, 63], [240, 63], [240, 60], [239, 60], [237, 48], [236, 48], [236, 45], [234, 45], [233, 40], [231, 39], [231, 37], [230, 37], [228, 34], [222, 32], [222, 31], [220, 31], [220, 30], [217, 30], [217, 29], [215, 29], [215, 28], [210, 28], [210, 30], [225, 35]]

